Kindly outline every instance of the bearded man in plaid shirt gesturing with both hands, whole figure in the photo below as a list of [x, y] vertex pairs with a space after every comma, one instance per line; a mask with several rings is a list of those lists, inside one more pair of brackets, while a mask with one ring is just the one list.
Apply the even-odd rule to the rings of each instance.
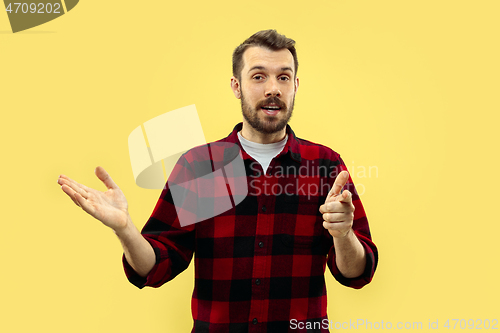
[[[142, 234], [104, 169], [96, 169], [108, 188], [104, 193], [59, 178], [78, 206], [115, 231], [125, 272], [137, 287], [159, 287], [195, 254], [193, 332], [328, 332], [326, 265], [353, 288], [369, 283], [375, 272], [377, 249], [345, 164], [287, 125], [299, 86], [294, 44], [266, 30], [233, 53], [231, 88], [241, 99], [243, 122], [208, 146], [239, 149], [248, 193], [235, 207], [202, 221], [181, 221], [174, 184], [194, 179], [195, 189], [185, 193], [196, 193], [195, 202], [212, 193], [217, 202], [215, 190], [196, 183], [197, 170], [221, 165], [227, 151], [206, 154], [207, 146], [179, 159]], [[192, 216], [187, 210], [184, 215]]]

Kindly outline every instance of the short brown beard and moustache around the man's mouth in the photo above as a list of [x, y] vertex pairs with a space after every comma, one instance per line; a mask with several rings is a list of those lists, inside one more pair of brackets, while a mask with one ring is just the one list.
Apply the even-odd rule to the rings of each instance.
[[[278, 118], [277, 116], [273, 117], [263, 114], [264, 119], [261, 119], [259, 115], [261, 113], [261, 107], [272, 103], [278, 105], [281, 108], [279, 113], [284, 112], [285, 117]], [[273, 134], [283, 130], [283, 128], [285, 128], [285, 126], [288, 124], [288, 121], [292, 117], [294, 104], [295, 95], [293, 96], [289, 107], [287, 107], [285, 102], [283, 102], [279, 98], [270, 97], [257, 103], [255, 108], [252, 108], [252, 106], [246, 101], [243, 92], [241, 93], [241, 112], [243, 113], [243, 118], [245, 118], [245, 120], [248, 122], [248, 124], [250, 124], [250, 126], [252, 126], [253, 129], [262, 134]]]

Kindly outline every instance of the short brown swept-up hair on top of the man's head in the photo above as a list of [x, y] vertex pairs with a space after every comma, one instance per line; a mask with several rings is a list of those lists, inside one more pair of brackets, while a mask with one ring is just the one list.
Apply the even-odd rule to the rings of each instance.
[[299, 67], [297, 60], [297, 51], [295, 50], [295, 41], [287, 38], [285, 35], [279, 34], [274, 29], [262, 30], [250, 36], [247, 40], [241, 43], [233, 52], [233, 75], [241, 80], [241, 71], [243, 69], [243, 53], [251, 46], [260, 46], [268, 48], [272, 51], [288, 49], [293, 56], [295, 64], [295, 75]]

